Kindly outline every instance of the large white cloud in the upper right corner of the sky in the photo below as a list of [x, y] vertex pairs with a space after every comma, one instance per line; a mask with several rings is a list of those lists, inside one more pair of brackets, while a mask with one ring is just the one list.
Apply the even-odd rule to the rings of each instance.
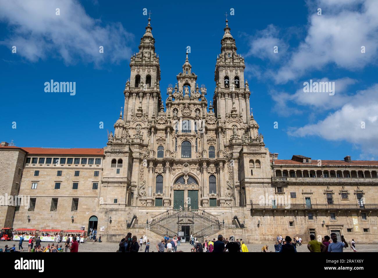
[[[347, 70], [359, 70], [376, 62], [378, 52], [378, 1], [341, 0], [330, 8], [324, 5], [322, 15], [313, 10], [304, 42], [292, 53], [289, 61], [273, 75], [276, 83], [297, 80], [307, 71], [322, 70], [325, 65], [335, 64]], [[357, 4], [363, 3], [359, 8]], [[327, 8], [329, 7], [329, 8]], [[361, 46], [366, 53], [361, 53]]]

